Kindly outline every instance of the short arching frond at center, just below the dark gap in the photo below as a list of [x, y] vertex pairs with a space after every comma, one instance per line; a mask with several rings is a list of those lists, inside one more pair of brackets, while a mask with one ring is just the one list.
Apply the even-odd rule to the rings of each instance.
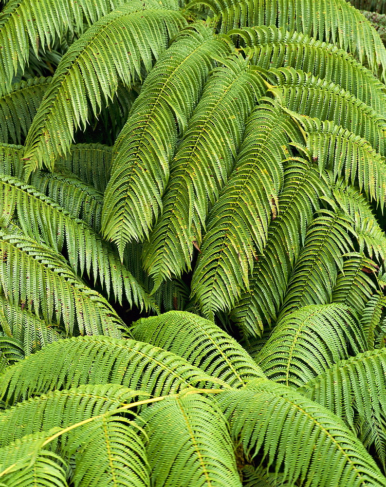
[[136, 321], [134, 338], [183, 357], [232, 387], [263, 374], [239, 343], [213, 322], [191, 313], [170, 311]]

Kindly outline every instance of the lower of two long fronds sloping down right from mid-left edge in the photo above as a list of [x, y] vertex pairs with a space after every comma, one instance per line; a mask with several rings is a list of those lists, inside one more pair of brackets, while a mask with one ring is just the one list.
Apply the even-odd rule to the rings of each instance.
[[120, 336], [122, 322], [110, 304], [51, 247], [12, 226], [0, 231], [0, 253], [0, 285], [11, 305], [41, 313], [47, 323], [61, 321], [69, 335], [78, 329]]

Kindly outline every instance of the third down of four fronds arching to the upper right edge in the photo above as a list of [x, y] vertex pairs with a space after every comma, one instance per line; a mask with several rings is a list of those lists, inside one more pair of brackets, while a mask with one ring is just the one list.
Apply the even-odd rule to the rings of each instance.
[[[385, 153], [386, 119], [341, 86], [294, 68], [272, 70], [283, 103], [292, 111], [320, 120], [330, 120], [365, 138]], [[383, 112], [385, 113], [385, 112]]]

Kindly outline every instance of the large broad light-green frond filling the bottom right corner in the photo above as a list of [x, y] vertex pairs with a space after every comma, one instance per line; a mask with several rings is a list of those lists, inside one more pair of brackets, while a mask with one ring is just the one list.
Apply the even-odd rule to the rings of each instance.
[[217, 398], [245, 453], [259, 452], [290, 483], [385, 487], [385, 477], [344, 422], [293, 388], [260, 379]]

